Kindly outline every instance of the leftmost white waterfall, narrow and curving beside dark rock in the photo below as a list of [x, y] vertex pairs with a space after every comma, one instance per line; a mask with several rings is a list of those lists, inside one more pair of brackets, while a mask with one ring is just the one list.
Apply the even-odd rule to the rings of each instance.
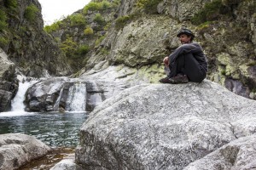
[[32, 86], [32, 84], [38, 81], [33, 80], [30, 82], [20, 81], [19, 82], [19, 89], [15, 96], [15, 98], [11, 101], [12, 102], [12, 110], [15, 112], [24, 112], [25, 105], [23, 104], [25, 100], [26, 90]]

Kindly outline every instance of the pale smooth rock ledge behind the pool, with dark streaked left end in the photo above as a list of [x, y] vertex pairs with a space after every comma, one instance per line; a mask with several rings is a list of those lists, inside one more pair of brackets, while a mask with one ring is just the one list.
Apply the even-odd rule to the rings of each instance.
[[[83, 111], [92, 111], [96, 105], [125, 88], [145, 82], [158, 82], [158, 77], [164, 73], [161, 67], [157, 67], [145, 66], [137, 70], [125, 65], [109, 66], [103, 62], [79, 78], [51, 77], [42, 80], [27, 90], [26, 111], [68, 111], [71, 96], [74, 103], [76, 99], [77, 103], [85, 103]], [[82, 86], [77, 86], [79, 84]], [[76, 96], [76, 89], [80, 91], [80, 97]]]

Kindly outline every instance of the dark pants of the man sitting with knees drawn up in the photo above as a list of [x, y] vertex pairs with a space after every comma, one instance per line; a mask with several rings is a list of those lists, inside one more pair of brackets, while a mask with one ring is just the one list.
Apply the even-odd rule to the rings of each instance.
[[169, 77], [183, 74], [187, 75], [189, 82], [201, 82], [207, 77], [207, 72], [201, 67], [193, 54], [179, 55], [169, 67]]

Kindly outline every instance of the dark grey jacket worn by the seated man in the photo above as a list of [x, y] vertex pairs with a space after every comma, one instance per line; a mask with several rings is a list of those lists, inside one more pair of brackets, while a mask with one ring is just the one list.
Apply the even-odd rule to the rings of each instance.
[[199, 65], [201, 66], [201, 69], [205, 72], [208, 71], [208, 64], [207, 64], [207, 56], [204, 54], [203, 49], [201, 48], [201, 45], [197, 42], [190, 42], [185, 43], [174, 50], [172, 54], [169, 55], [169, 63], [170, 65], [173, 64], [175, 59], [177, 59], [178, 55], [181, 54], [193, 54], [195, 59], [198, 61]]

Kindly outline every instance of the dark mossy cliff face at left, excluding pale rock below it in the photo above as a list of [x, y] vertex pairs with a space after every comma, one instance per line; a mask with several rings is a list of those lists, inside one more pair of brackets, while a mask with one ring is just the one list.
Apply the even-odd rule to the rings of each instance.
[[1, 47], [26, 76], [67, 75], [70, 68], [61, 50], [44, 32], [37, 0], [1, 0]]

